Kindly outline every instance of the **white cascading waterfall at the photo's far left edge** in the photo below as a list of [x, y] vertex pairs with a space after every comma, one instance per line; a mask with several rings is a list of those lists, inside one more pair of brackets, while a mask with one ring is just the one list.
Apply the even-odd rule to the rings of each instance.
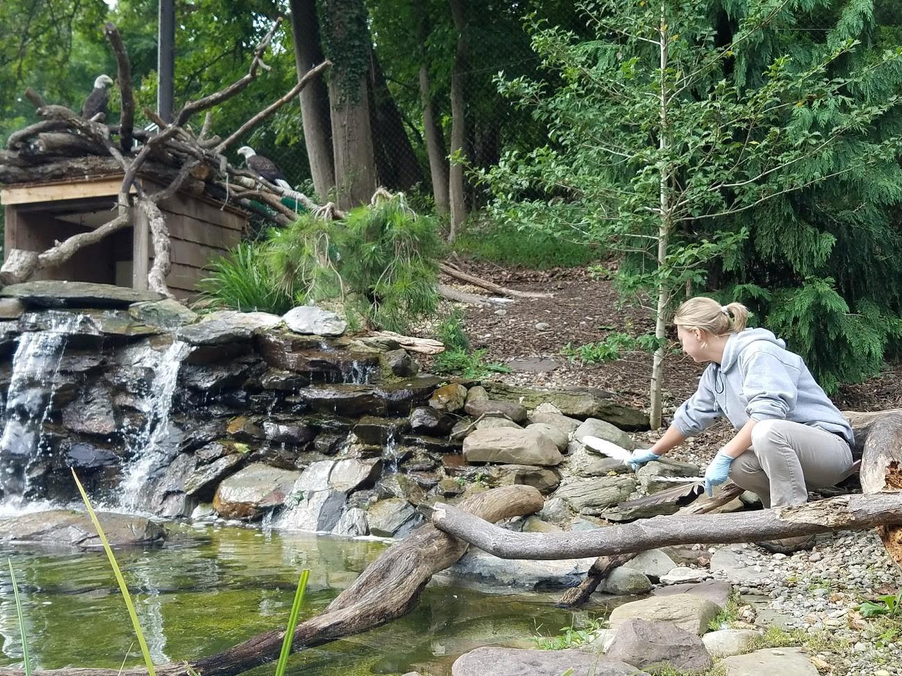
[[[43, 331], [23, 333], [13, 357], [13, 376], [6, 394], [0, 436], [0, 497], [21, 501], [29, 490], [29, 470], [45, 450], [43, 424], [50, 415], [57, 371], [69, 335], [78, 333], [85, 315], [48, 311]], [[35, 324], [25, 315], [23, 324]]]

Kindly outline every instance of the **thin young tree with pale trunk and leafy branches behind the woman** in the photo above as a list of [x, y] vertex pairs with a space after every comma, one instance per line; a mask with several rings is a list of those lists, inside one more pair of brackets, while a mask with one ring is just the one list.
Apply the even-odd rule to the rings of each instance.
[[771, 59], [754, 83], [740, 77], [748, 50], [813, 4], [751, 0], [724, 40], [718, 22], [732, 14], [720, 0], [584, 2], [592, 41], [531, 26], [534, 50], [562, 84], [499, 80], [548, 123], [549, 143], [508, 153], [483, 175], [495, 211], [620, 254], [621, 290], [650, 297], [655, 314], [653, 427], [661, 424], [668, 313], [687, 284], [704, 282], [706, 265], [729, 260], [748, 236], [731, 219], [897, 159], [897, 137], [869, 132], [898, 93], [871, 100], [852, 91], [897, 67], [902, 49], [843, 72], [859, 43], [838, 40], [805, 59]]

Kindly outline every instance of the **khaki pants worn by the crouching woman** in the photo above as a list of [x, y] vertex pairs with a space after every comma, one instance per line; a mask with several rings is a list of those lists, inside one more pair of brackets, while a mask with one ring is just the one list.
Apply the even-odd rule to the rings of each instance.
[[764, 507], [801, 505], [808, 489], [845, 478], [851, 449], [844, 439], [788, 420], [762, 420], [751, 430], [751, 448], [730, 468], [737, 486], [756, 493]]

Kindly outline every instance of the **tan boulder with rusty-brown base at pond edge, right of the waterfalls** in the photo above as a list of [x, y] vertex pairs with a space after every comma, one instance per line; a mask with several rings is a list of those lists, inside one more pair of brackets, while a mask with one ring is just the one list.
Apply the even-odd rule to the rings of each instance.
[[225, 518], [254, 519], [281, 507], [300, 472], [279, 470], [262, 463], [248, 465], [219, 484], [213, 507]]

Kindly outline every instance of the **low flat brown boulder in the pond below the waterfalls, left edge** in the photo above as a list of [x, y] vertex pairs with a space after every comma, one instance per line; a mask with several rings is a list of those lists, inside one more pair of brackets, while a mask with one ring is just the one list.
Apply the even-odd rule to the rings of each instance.
[[[161, 525], [143, 516], [97, 512], [97, 520], [113, 546], [151, 544], [165, 536]], [[102, 546], [90, 516], [69, 509], [0, 519], [0, 542], [68, 545], [79, 549]]]

